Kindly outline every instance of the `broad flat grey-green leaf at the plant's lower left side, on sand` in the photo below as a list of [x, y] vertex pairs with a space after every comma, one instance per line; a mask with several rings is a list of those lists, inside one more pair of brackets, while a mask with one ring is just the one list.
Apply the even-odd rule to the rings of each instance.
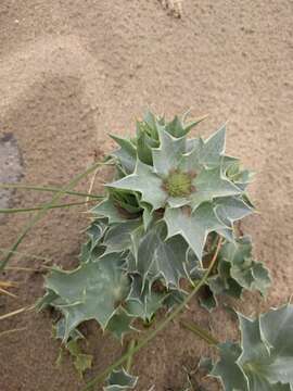
[[58, 294], [51, 305], [65, 316], [65, 340], [85, 320], [95, 319], [106, 327], [129, 291], [124, 262], [122, 256], [109, 254], [72, 272], [52, 269], [46, 286]]

